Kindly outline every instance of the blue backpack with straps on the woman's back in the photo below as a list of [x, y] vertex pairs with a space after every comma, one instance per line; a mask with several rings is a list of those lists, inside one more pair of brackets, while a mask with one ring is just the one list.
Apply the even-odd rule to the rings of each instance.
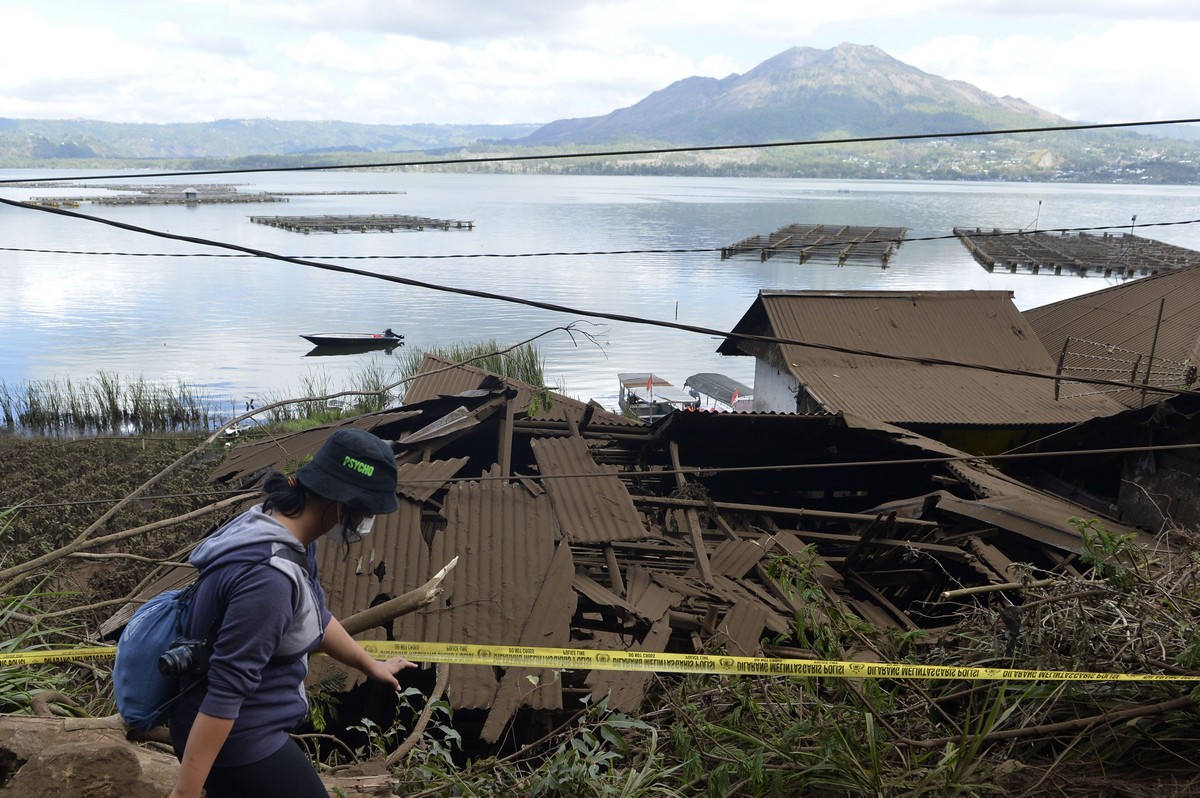
[[[305, 554], [281, 548], [270, 557], [253, 563], [251, 568], [263, 565], [272, 557], [290, 560], [304, 568], [308, 564]], [[212, 569], [206, 569], [191, 584], [163, 590], [138, 607], [116, 641], [113, 695], [116, 698], [116, 712], [131, 728], [144, 732], [166, 724], [172, 706], [186, 691], [180, 688], [178, 672], [163, 671], [160, 664], [164, 659], [163, 654], [170, 652], [167, 659], [173, 658], [176, 662], [194, 655], [202, 658], [203, 665], [206, 666], [212, 640], [224, 617], [227, 599], [221, 598], [220, 608], [205, 640], [185, 640], [184, 632], [187, 629], [196, 590], [210, 572]], [[248, 569], [246, 572], [248, 574]], [[184, 652], [184, 648], [188, 650]], [[194, 679], [187, 689], [203, 683], [203, 678]]]

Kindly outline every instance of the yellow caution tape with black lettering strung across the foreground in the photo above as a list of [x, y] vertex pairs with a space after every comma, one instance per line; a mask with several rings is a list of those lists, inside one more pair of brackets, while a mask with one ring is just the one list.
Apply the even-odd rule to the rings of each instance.
[[[476, 646], [470, 643], [410, 643], [361, 641], [372, 656], [403, 656], [414, 662], [490, 665], [498, 667], [551, 668], [562, 671], [643, 671], [654, 673], [706, 673], [727, 676], [823, 676], [844, 679], [968, 679], [998, 682], [1200, 682], [1200, 676], [1158, 673], [1099, 673], [1091, 671], [1038, 671], [949, 665], [893, 665], [842, 662], [721, 654], [659, 654], [592, 648], [536, 646]], [[0, 666], [67, 662], [116, 655], [115, 646], [59, 648], [0, 654]]]

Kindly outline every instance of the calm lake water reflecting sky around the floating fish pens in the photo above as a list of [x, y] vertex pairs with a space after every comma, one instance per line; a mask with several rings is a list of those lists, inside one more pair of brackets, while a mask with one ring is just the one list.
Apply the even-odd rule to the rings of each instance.
[[[0, 179], [36, 176], [55, 175], [0, 170]], [[164, 181], [133, 176], [128, 182]], [[1008, 290], [1025, 310], [1112, 284], [1099, 276], [989, 274], [950, 238], [956, 226], [1128, 230], [1136, 215], [1139, 235], [1200, 250], [1198, 224], [1151, 226], [1200, 216], [1200, 187], [1193, 186], [421, 172], [173, 181], [234, 182], [242, 192], [392, 193], [298, 193], [278, 204], [83, 204], [77, 210], [446, 287], [719, 330], [732, 328], [763, 288]], [[11, 199], [83, 193], [101, 192], [0, 186], [0, 197]], [[252, 215], [323, 214], [406, 214], [468, 220], [474, 228], [304, 235], [250, 221]], [[797, 223], [905, 227], [908, 233], [886, 269], [784, 257], [722, 260], [715, 251], [647, 252], [718, 250]], [[313, 382], [341, 389], [367, 364], [394, 364], [385, 353], [308, 356], [305, 332], [392, 328], [408, 347], [433, 348], [487, 338], [509, 344], [586, 319], [270, 259], [202, 257], [223, 253], [10, 206], [0, 206], [0, 380], [10, 386], [104, 371], [197, 386], [215, 402], [228, 402], [232, 414], [250, 397], [293, 396]], [[937, 240], [916, 240], [924, 238]], [[611, 252], [625, 253], [604, 254]], [[653, 371], [678, 386], [701, 371], [754, 380], [752, 360], [718, 355], [719, 340], [712, 336], [593, 324], [582, 328], [593, 340], [553, 332], [538, 341], [547, 379], [568, 395], [611, 407], [622, 371]]]

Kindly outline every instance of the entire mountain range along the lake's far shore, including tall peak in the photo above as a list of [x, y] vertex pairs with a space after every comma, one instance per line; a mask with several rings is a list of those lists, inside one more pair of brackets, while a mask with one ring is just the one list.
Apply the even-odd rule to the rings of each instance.
[[[1200, 184], [1200, 140], [1184, 131], [1054, 131], [821, 146], [828, 140], [1052, 127], [1024, 100], [929, 74], [877, 47], [794, 47], [745, 74], [690, 77], [604, 116], [548, 125], [355, 125], [226, 119], [122, 125], [0, 119], [0, 167], [179, 169], [374, 163], [461, 155], [460, 170], [829, 179]], [[1186, 131], [1192, 132], [1192, 131]], [[588, 150], [742, 145], [737, 150], [535, 160]], [[433, 154], [433, 151], [438, 151]], [[470, 163], [480, 155], [497, 156]], [[520, 155], [521, 161], [503, 160]], [[130, 161], [136, 161], [130, 163]]]

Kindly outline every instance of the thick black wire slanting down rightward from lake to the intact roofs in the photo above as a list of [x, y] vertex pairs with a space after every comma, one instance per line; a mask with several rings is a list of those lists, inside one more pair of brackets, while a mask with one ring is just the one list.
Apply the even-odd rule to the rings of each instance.
[[[293, 258], [283, 254], [277, 254], [275, 252], [268, 252], [265, 250], [256, 250], [253, 247], [242, 246], [240, 244], [229, 244], [227, 241], [216, 241], [212, 239], [202, 239], [194, 235], [182, 235], [180, 233], [167, 233], [164, 230], [154, 230], [145, 227], [138, 227], [137, 224], [130, 224], [127, 222], [118, 222], [110, 218], [102, 218], [100, 216], [89, 216], [86, 214], [79, 214], [77, 211], [66, 210], [62, 208], [47, 208], [44, 205], [30, 205], [28, 203], [20, 203], [14, 199], [0, 198], [0, 204], [11, 205], [13, 208], [24, 208], [26, 210], [41, 211], [43, 214], [54, 214], [56, 216], [66, 216], [68, 218], [85, 220], [89, 222], [96, 222], [97, 224], [106, 224], [108, 227], [115, 227], [122, 230], [130, 230], [132, 233], [140, 233], [143, 235], [151, 235], [155, 238], [167, 239], [172, 241], [186, 241], [188, 244], [197, 244], [200, 246], [211, 246], [223, 250], [232, 250], [234, 252], [242, 252], [245, 254], [252, 254], [260, 258], [269, 258], [271, 260], [282, 260], [283, 263], [292, 263], [299, 266], [311, 266], [313, 269], [323, 269], [325, 271], [336, 271], [347, 275], [358, 275], [360, 277], [371, 277], [373, 280], [380, 280], [384, 282], [397, 283], [401, 286], [409, 286], [412, 288], [424, 288], [427, 290], [436, 290], [446, 294], [457, 294], [461, 296], [474, 296], [476, 299], [487, 299], [500, 302], [509, 302], [511, 305], [522, 305], [526, 307], [534, 307], [542, 311], [551, 311], [554, 313], [566, 313], [570, 316], [582, 316], [588, 318], [599, 318], [608, 322], [620, 322], [625, 324], [643, 324], [648, 326], [658, 326], [671, 330], [680, 330], [683, 332], [696, 332], [708, 337], [724, 338], [724, 340], [739, 340], [739, 341], [757, 341], [761, 343], [778, 343], [784, 346], [796, 346], [804, 347], [808, 349], [820, 349], [824, 352], [838, 352], [841, 354], [858, 355], [862, 358], [876, 358], [880, 360], [896, 360], [901, 362], [914, 362], [920, 365], [934, 365], [934, 366], [954, 366], [959, 368], [972, 368], [976, 371], [986, 371], [996, 374], [1009, 374], [1015, 377], [1031, 377], [1036, 379], [1052, 379], [1060, 382], [1062, 377], [1057, 374], [1048, 374], [1034, 371], [1024, 371], [1020, 368], [1006, 368], [1003, 366], [992, 366], [986, 364], [968, 364], [959, 360], [947, 360], [943, 358], [929, 358], [918, 355], [900, 355], [890, 353], [872, 352], [869, 349], [857, 349], [853, 347], [842, 347], [832, 343], [814, 343], [810, 341], [797, 341], [794, 338], [784, 338], [779, 336], [769, 335], [750, 335], [745, 332], [732, 332], [728, 330], [718, 330], [715, 328], [700, 326], [695, 324], [683, 324], [680, 322], [666, 322], [661, 319], [650, 319], [640, 316], [626, 316], [624, 313], [610, 313], [605, 311], [589, 311], [577, 307], [570, 307], [568, 305], [558, 305], [556, 302], [544, 302], [534, 299], [524, 299], [522, 296], [512, 296], [509, 294], [497, 294], [493, 292], [478, 290], [474, 288], [456, 288], [452, 286], [442, 286], [439, 283], [425, 282], [422, 280], [414, 280], [412, 277], [401, 277], [397, 275], [383, 275], [374, 271], [365, 271], [362, 269], [353, 269], [350, 266], [341, 266], [331, 263], [320, 263], [318, 260], [310, 260], [305, 258]], [[1117, 388], [1134, 389], [1134, 390], [1152, 390], [1158, 394], [1171, 394], [1192, 396], [1195, 391], [1169, 388], [1164, 385], [1154, 386], [1147, 389], [1146, 385], [1140, 385], [1136, 383], [1128, 383], [1115, 379], [1099, 379], [1088, 377], [1073, 377], [1069, 382], [1091, 384], [1091, 385], [1115, 385]]]

